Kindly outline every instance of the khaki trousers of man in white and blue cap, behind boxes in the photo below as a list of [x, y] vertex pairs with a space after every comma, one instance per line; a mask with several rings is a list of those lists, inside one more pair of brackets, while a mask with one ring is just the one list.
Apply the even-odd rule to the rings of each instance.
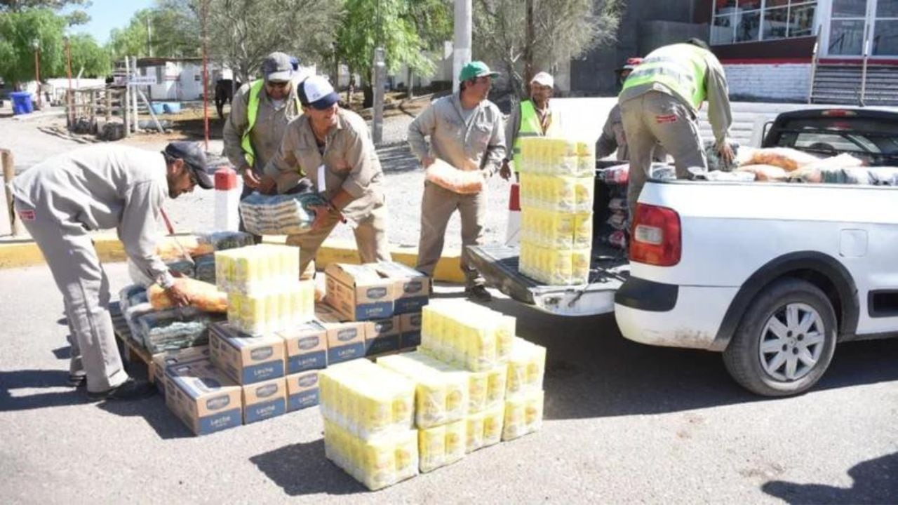
[[[325, 226], [320, 230], [300, 235], [288, 235], [287, 245], [299, 247], [299, 272], [300, 279], [312, 279], [315, 274], [315, 255], [321, 248], [321, 244], [328, 238], [334, 226], [340, 222], [336, 213], [329, 212]], [[356, 246], [359, 259], [363, 263], [374, 261], [392, 261], [390, 255], [390, 243], [387, 239], [387, 206], [381, 205], [372, 209], [368, 217], [352, 230], [356, 235]]]

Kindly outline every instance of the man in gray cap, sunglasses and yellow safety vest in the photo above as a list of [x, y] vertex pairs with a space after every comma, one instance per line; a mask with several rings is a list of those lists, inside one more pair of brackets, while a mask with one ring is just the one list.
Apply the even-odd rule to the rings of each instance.
[[303, 113], [293, 84], [294, 58], [271, 53], [262, 61], [261, 72], [262, 79], [243, 84], [233, 97], [222, 132], [225, 155], [243, 178], [240, 199], [259, 187], [262, 169], [277, 153], [286, 124]]

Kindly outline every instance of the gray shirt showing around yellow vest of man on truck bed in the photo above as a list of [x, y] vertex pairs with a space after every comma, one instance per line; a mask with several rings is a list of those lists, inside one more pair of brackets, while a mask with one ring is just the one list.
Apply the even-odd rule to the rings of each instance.
[[[720, 65], [720, 61], [711, 51], [703, 51], [703, 53], [705, 65], [707, 66], [703, 85], [705, 86], [705, 100], [708, 102], [708, 120], [711, 123], [711, 130], [714, 132], [714, 139], [717, 145], [722, 146], [728, 135], [729, 127], [733, 123], [726, 75], [724, 74], [724, 67]], [[674, 96], [684, 106], [688, 107], [693, 115], [698, 117], [699, 111], [696, 110], [691, 102], [683, 100], [677, 93], [674, 93], [665, 84], [661, 83], [647, 83], [627, 88], [618, 96], [618, 102], [625, 102], [650, 91]]]

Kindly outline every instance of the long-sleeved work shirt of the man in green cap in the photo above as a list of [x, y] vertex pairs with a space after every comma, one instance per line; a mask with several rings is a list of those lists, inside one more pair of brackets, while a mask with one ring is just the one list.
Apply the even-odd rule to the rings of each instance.
[[506, 156], [502, 130], [502, 112], [495, 103], [480, 102], [465, 121], [459, 93], [453, 93], [431, 103], [411, 122], [409, 146], [418, 160], [437, 157], [455, 168], [491, 175]]

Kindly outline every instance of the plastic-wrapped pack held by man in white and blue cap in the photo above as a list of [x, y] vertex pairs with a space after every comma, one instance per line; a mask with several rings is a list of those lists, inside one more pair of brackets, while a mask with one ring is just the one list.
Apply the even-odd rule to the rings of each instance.
[[317, 192], [263, 195], [258, 191], [240, 202], [243, 226], [254, 235], [299, 235], [315, 220], [313, 207], [327, 205]]

